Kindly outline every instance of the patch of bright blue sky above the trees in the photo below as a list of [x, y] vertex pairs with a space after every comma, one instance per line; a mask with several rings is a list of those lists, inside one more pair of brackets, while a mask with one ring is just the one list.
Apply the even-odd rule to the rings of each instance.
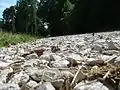
[[0, 18], [2, 18], [2, 12], [5, 8], [15, 5], [17, 0], [0, 0]]

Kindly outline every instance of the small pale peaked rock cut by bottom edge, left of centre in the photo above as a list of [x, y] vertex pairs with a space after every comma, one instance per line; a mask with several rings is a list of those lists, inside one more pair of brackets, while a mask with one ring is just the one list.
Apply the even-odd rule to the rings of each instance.
[[50, 82], [45, 82], [36, 88], [36, 90], [55, 90], [55, 88]]

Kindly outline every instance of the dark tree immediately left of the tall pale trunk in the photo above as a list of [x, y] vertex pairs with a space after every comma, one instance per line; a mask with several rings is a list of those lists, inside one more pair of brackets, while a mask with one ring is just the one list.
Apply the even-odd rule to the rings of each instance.
[[30, 0], [17, 1], [16, 28], [19, 32], [32, 32], [32, 5]]

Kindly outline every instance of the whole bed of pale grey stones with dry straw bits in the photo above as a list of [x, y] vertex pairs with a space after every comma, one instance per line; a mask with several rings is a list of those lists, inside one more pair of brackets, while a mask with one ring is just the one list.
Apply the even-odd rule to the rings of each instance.
[[0, 49], [0, 90], [120, 90], [119, 81], [119, 31]]

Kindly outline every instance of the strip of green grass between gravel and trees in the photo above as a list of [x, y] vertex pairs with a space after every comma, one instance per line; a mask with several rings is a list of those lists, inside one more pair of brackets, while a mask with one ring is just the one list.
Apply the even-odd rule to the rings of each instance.
[[12, 34], [10, 32], [0, 32], [0, 47], [8, 47], [17, 43], [34, 41], [40, 37], [27, 34]]

